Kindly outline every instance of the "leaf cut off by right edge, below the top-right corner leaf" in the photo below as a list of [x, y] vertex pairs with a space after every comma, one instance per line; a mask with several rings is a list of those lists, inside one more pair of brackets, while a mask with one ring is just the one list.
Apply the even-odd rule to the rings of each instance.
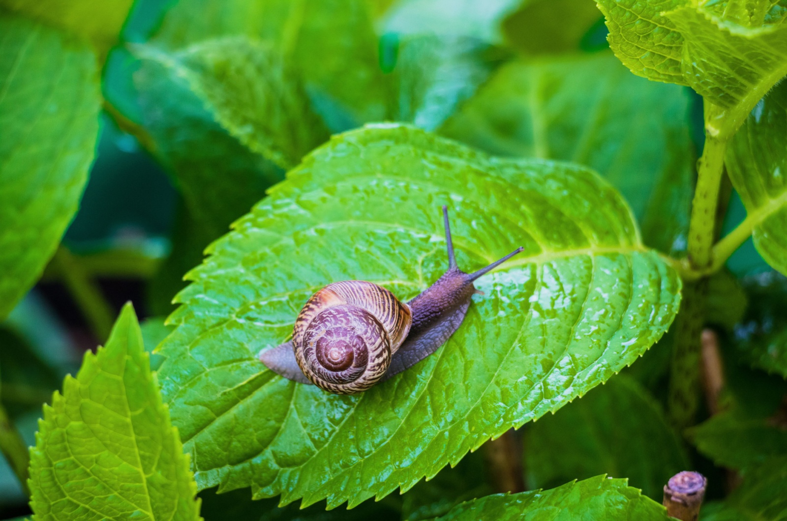
[[768, 264], [787, 275], [785, 139], [787, 83], [781, 83], [748, 115], [725, 159], [730, 180], [746, 207], [744, 226], [753, 230], [754, 246]]

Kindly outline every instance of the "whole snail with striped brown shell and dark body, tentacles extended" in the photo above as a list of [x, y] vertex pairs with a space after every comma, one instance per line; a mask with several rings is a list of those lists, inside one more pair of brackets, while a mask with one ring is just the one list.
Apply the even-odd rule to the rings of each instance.
[[437, 351], [459, 328], [473, 281], [522, 251], [474, 273], [456, 266], [448, 209], [443, 206], [448, 270], [411, 301], [361, 280], [331, 283], [313, 294], [295, 320], [293, 338], [260, 352], [260, 361], [286, 379], [334, 394], [356, 394], [405, 371]]

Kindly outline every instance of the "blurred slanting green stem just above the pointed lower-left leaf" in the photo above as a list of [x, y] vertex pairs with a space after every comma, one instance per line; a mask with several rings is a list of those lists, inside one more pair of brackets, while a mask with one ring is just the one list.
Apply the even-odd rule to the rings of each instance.
[[109, 338], [115, 313], [105, 300], [98, 284], [94, 282], [72, 253], [65, 246], [59, 246], [52, 259], [57, 264], [63, 283], [71, 293], [76, 305], [90, 324], [91, 331], [99, 342]]

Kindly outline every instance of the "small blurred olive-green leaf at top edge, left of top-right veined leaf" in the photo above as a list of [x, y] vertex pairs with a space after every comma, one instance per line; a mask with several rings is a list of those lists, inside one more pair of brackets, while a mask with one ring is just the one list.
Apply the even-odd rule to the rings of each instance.
[[506, 41], [520, 53], [560, 54], [580, 50], [602, 17], [589, 0], [525, 0], [503, 21]]

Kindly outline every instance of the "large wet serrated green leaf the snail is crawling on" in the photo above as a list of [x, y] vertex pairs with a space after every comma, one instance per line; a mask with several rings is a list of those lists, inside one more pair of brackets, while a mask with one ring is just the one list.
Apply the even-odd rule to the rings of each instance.
[[[327, 394], [257, 360], [331, 281], [402, 299], [445, 270], [449, 204], [466, 269], [524, 252], [478, 284], [463, 327], [368, 392]], [[396, 124], [334, 137], [187, 275], [161, 385], [199, 486], [312, 504], [408, 490], [512, 426], [631, 364], [666, 331], [680, 280], [586, 168], [487, 157]]]

